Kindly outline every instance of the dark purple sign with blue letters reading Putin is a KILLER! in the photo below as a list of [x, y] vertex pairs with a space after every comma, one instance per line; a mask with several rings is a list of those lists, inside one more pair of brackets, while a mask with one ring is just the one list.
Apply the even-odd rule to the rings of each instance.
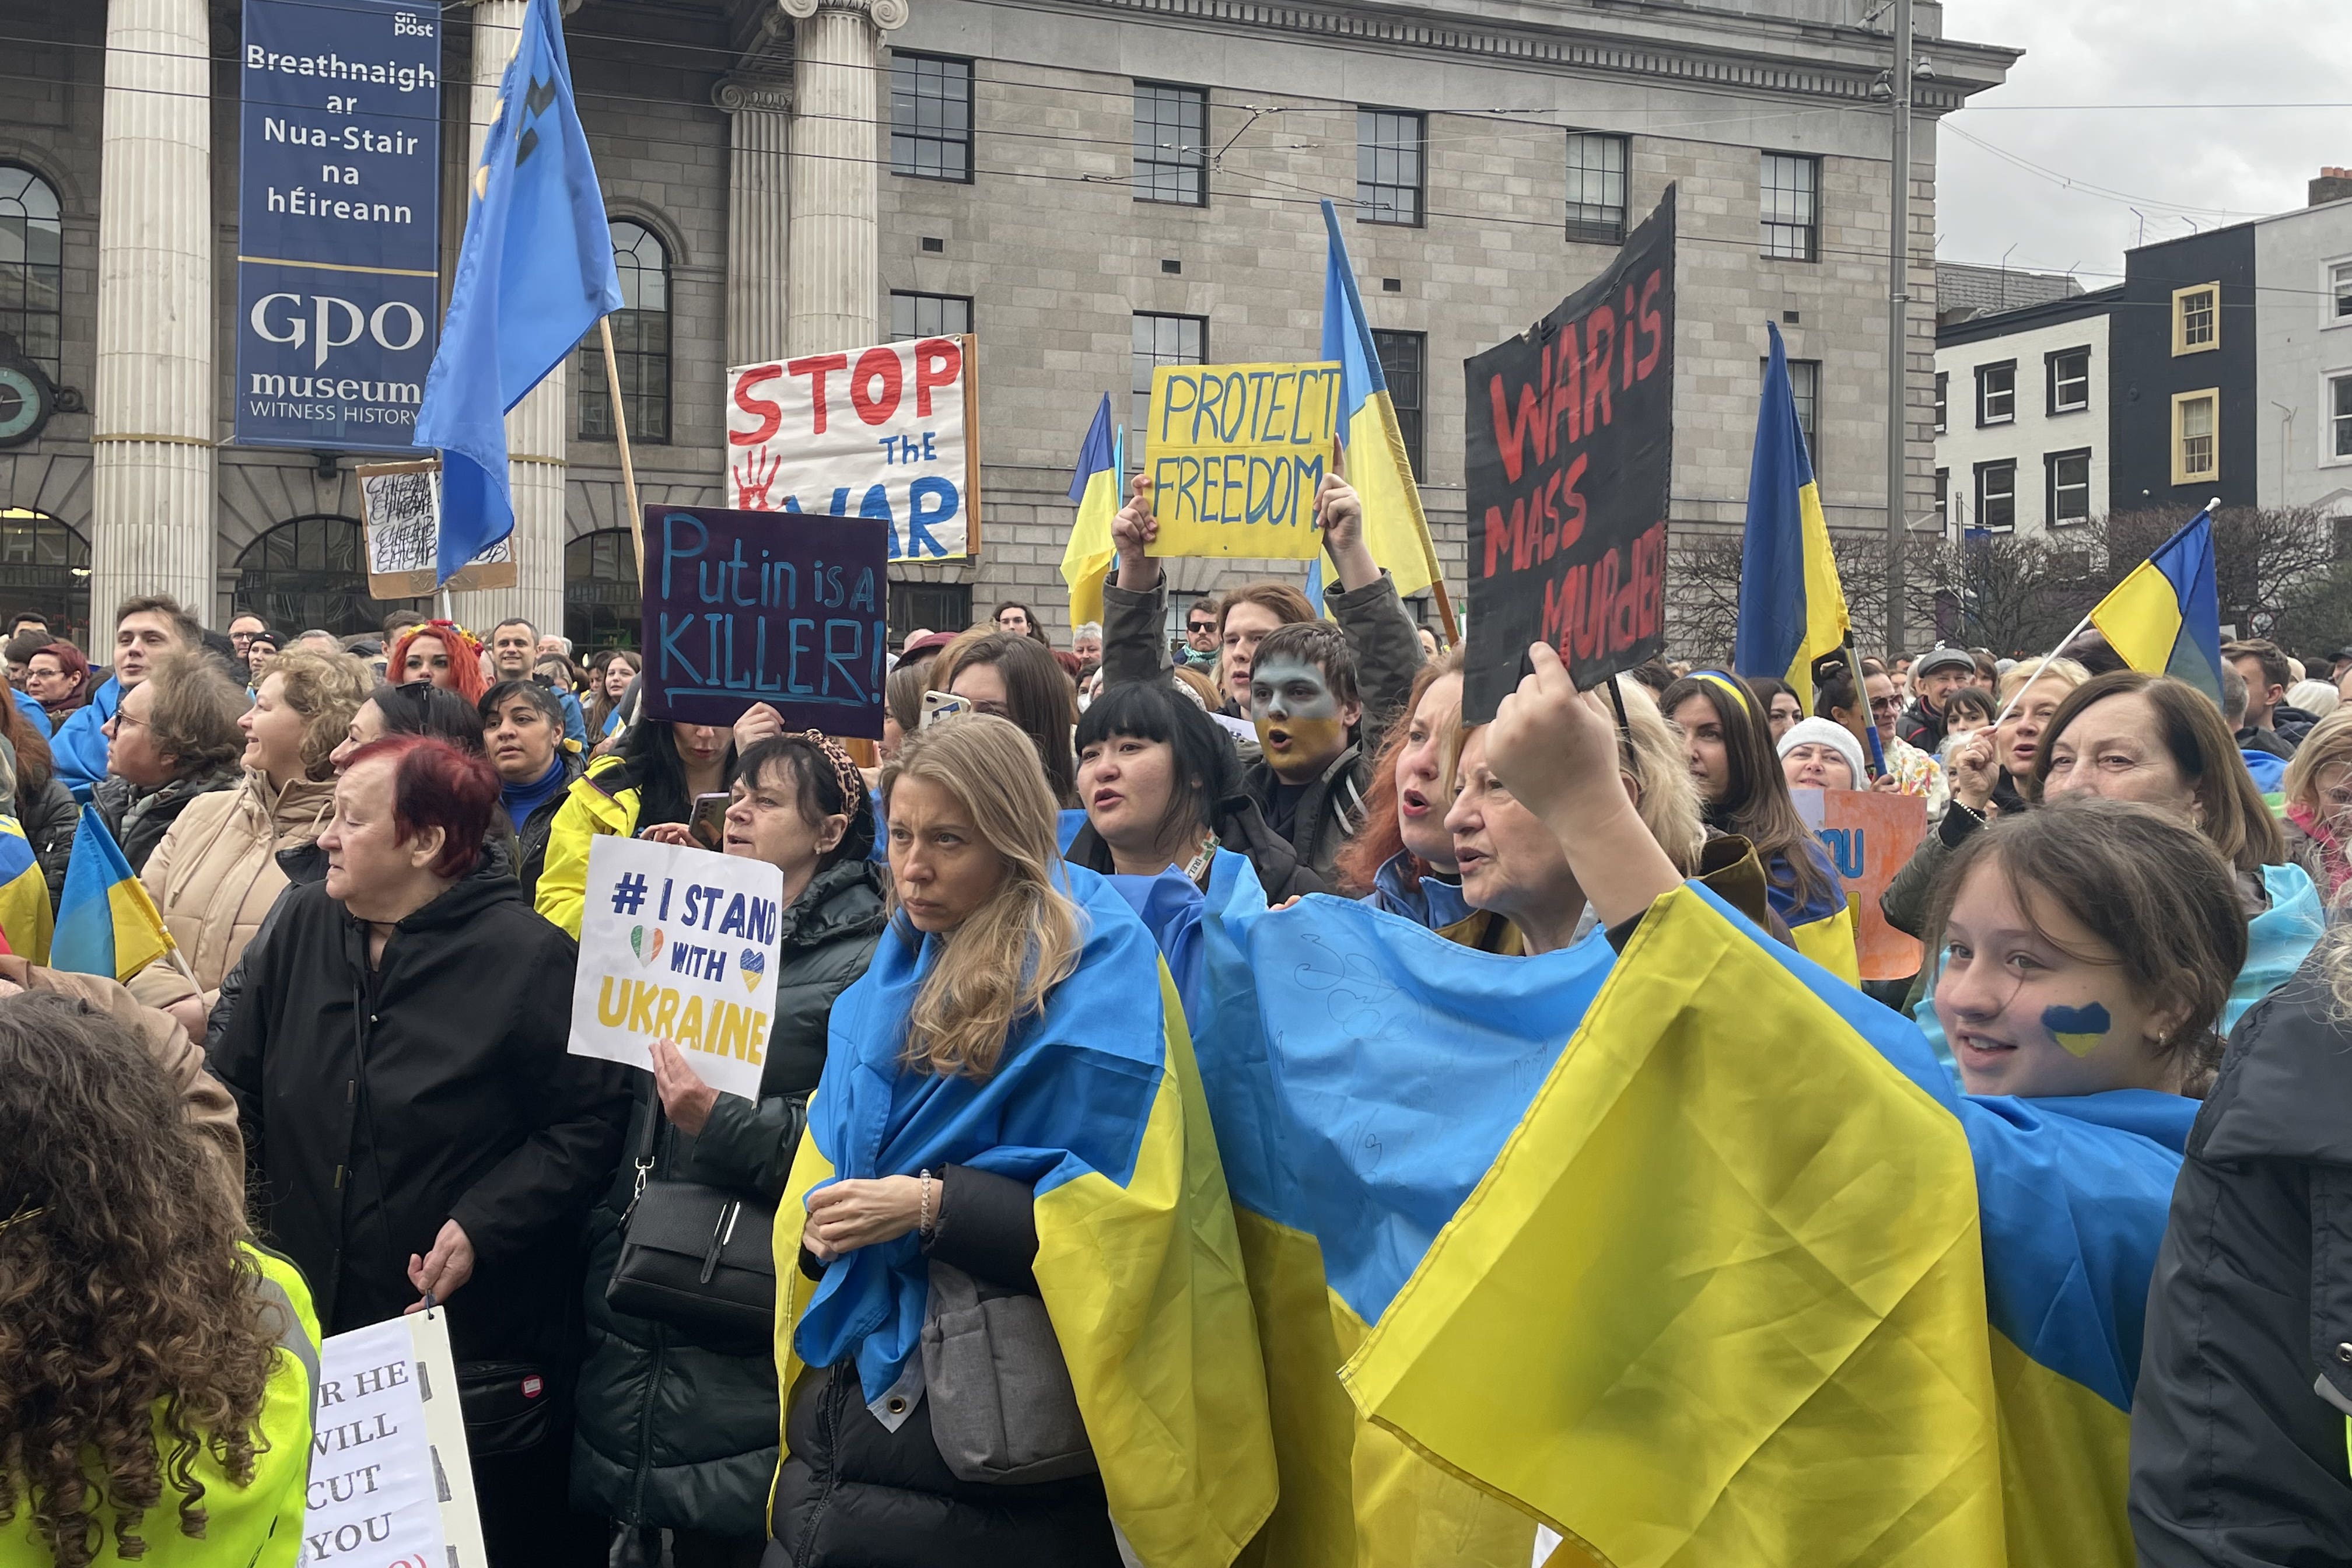
[[887, 550], [863, 517], [644, 508], [647, 717], [880, 738]]

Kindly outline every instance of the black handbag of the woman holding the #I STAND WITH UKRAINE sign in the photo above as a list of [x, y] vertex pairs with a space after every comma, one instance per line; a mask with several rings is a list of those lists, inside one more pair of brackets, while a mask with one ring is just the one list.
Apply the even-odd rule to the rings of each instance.
[[715, 1340], [764, 1345], [776, 1331], [776, 1208], [727, 1187], [652, 1180], [661, 1098], [637, 1140], [637, 1187], [604, 1305]]

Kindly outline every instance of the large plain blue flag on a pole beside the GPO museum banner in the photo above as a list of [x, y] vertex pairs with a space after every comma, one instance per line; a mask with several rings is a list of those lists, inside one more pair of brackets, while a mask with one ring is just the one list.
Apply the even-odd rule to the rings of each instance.
[[515, 531], [506, 411], [619, 308], [621, 273], [572, 108], [564, 31], [555, 0], [529, 0], [473, 172], [449, 315], [416, 411], [416, 444], [442, 451], [440, 581]]

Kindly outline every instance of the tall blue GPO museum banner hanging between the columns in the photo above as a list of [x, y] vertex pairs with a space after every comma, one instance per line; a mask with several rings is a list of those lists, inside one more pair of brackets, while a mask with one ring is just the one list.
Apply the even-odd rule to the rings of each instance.
[[412, 451], [440, 320], [440, 9], [245, 0], [235, 440]]

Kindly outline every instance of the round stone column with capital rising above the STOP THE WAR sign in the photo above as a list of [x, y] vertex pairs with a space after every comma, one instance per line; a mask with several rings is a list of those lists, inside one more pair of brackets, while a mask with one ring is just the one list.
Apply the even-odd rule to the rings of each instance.
[[906, 26], [906, 0], [781, 2], [800, 19], [786, 343], [856, 348], [880, 334], [880, 47]]

